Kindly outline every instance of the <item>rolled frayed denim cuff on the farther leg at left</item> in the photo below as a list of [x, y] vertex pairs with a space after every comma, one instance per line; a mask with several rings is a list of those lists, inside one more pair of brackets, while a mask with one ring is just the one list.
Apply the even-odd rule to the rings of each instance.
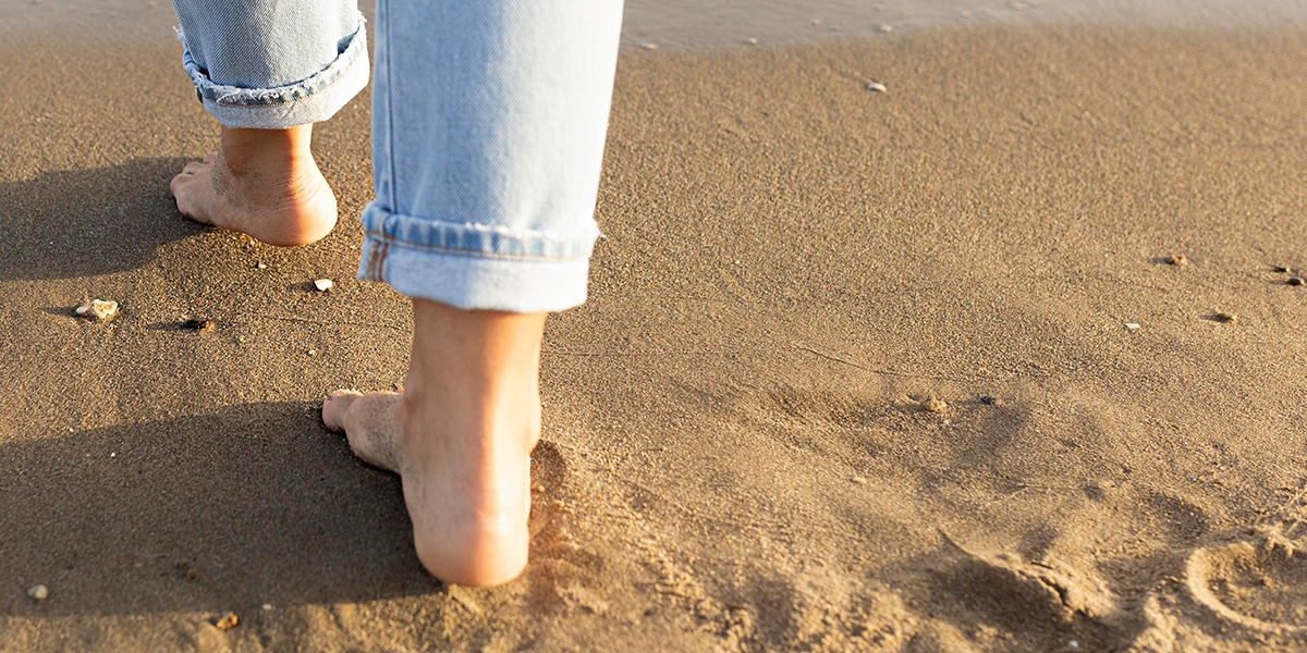
[[363, 16], [358, 16], [358, 30], [349, 38], [349, 46], [327, 68], [285, 86], [246, 89], [217, 84], [209, 78], [191, 57], [182, 39], [182, 65], [195, 84], [195, 93], [204, 110], [223, 127], [252, 129], [285, 129], [320, 123], [336, 115], [358, 91], [367, 86], [367, 31]]

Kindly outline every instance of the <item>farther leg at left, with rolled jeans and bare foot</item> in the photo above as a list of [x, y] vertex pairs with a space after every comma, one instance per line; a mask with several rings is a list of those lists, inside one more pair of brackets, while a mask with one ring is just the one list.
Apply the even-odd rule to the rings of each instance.
[[183, 67], [222, 124], [218, 151], [170, 185], [182, 214], [276, 246], [336, 223], [336, 197], [310, 150], [312, 123], [367, 84], [354, 0], [175, 0]]

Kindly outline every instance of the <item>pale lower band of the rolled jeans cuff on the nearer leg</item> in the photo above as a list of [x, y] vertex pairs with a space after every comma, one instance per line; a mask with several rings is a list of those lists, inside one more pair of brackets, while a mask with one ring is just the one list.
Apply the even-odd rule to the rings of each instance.
[[369, 235], [358, 278], [455, 308], [536, 313], [586, 303], [589, 259], [506, 260], [431, 251]]

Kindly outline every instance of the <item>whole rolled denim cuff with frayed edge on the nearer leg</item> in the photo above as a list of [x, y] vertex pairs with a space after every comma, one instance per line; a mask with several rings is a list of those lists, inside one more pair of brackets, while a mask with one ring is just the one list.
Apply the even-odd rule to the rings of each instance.
[[464, 310], [516, 313], [563, 311], [586, 303], [589, 255], [599, 235], [561, 238], [363, 209], [358, 278]]

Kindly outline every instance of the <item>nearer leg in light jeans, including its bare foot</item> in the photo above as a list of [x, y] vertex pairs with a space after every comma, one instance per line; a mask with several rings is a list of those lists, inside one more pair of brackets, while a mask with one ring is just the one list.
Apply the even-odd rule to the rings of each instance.
[[586, 296], [618, 0], [378, 5], [362, 278], [413, 298], [403, 398], [323, 421], [400, 473], [414, 545], [471, 585], [527, 560], [544, 316]]

